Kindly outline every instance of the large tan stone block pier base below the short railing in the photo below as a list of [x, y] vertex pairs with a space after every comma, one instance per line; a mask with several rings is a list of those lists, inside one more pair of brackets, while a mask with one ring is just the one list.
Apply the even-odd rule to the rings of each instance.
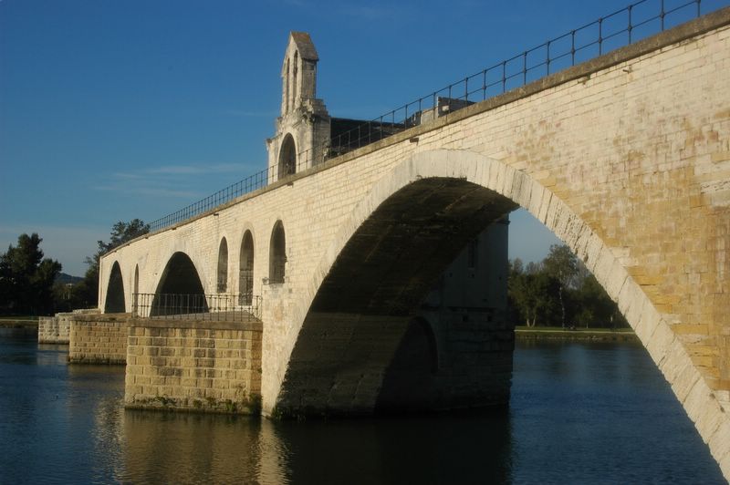
[[260, 323], [132, 320], [127, 408], [257, 414]]

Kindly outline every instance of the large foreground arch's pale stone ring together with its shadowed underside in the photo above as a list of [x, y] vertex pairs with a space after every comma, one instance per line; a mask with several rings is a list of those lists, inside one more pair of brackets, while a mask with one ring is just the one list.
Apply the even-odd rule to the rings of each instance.
[[[443, 203], [444, 191], [452, 194], [447, 204]], [[391, 203], [398, 199], [410, 201], [410, 206], [405, 207], [406, 212], [402, 212], [400, 204]], [[432, 203], [437, 201], [441, 201], [441, 209], [439, 203]], [[419, 212], [418, 208], [423, 203], [431, 204], [431, 210]], [[490, 219], [495, 220], [495, 214], [510, 212], [517, 206], [532, 213], [586, 264], [610, 298], [619, 305], [620, 312], [672, 385], [675, 396], [704, 441], [709, 443], [715, 459], [723, 459], [730, 449], [721, 437], [730, 426], [723, 408], [664, 316], [631, 278], [610, 247], [564, 201], [527, 172], [465, 150], [433, 150], [410, 156], [383, 174], [369, 194], [355, 206], [349, 220], [340, 226], [339, 233], [330, 242], [318, 269], [313, 272], [308, 284], [308, 298], [303, 298], [291, 315], [292, 321], [300, 322], [300, 326], [292, 329], [283, 348], [283, 352], [287, 352], [288, 346], [288, 359], [279, 355], [275, 362], [265, 361], [264, 365], [269, 367], [266, 372], [279, 380], [271, 379], [262, 389], [264, 411], [277, 412], [282, 407], [296, 406], [299, 412], [306, 413], [308, 407], [327, 408], [333, 391], [344, 394], [354, 391], [350, 394], [351, 411], [372, 408], [377, 389], [381, 386], [377, 372], [370, 375], [371, 382], [363, 381], [360, 372], [350, 372], [357, 382], [352, 389], [344, 390], [337, 388], [340, 383], [333, 376], [337, 373], [345, 376], [348, 367], [353, 367], [354, 359], [363, 356], [370, 358], [368, 365], [385, 368], [392, 350], [402, 338], [409, 309], [417, 304], [429, 277], [438, 273], [436, 267], [443, 269], [443, 264], [404, 264], [392, 259], [389, 254], [402, 252], [399, 249], [401, 242], [414, 241], [414, 222], [419, 216], [427, 216], [425, 223], [416, 225], [422, 228], [418, 233], [423, 241], [433, 231], [432, 246], [416, 245], [409, 251], [416, 253], [425, 248], [434, 257], [446, 260], [445, 254], [453, 257], [454, 247], [464, 246], [465, 235], [478, 233], [474, 227], [482, 229]], [[463, 212], [462, 222], [448, 217], [450, 212], [458, 212], [464, 207], [471, 207], [472, 211], [468, 214], [468, 211]], [[363, 230], [373, 224], [376, 217], [381, 220], [382, 227], [390, 224], [389, 234], [392, 237]], [[435, 222], [440, 218], [443, 218], [443, 225], [439, 227]], [[444, 234], [461, 241], [458, 244], [444, 242]], [[439, 251], [433, 251], [433, 246], [440, 248]], [[370, 252], [353, 251], [356, 247], [370, 249]], [[381, 274], [386, 277], [380, 284], [367, 283], [370, 280], [362, 277], [363, 272], [376, 274], [376, 266], [383, 264], [408, 270], [418, 277], [404, 279]], [[345, 283], [352, 290], [348, 294], [340, 292], [338, 298], [333, 297]], [[402, 285], [401, 289], [383, 291], [393, 290], [396, 285]], [[389, 321], [379, 322], [382, 315], [389, 316]], [[336, 329], [342, 324], [349, 327], [349, 335], [337, 334]], [[394, 330], [396, 328], [400, 330]], [[335, 346], [327, 346], [328, 339], [338, 341], [338, 336], [339, 342], [361, 336], [377, 338], [373, 339], [375, 343], [370, 349], [354, 353], [347, 348], [337, 352]], [[312, 356], [312, 349], [320, 344], [325, 344], [327, 349], [331, 347], [334, 353], [328, 354], [320, 347], [318, 354]], [[378, 358], [381, 360], [378, 361]], [[317, 368], [329, 375], [307, 379], [302, 374], [305, 367], [310, 371]], [[304, 385], [308, 386], [307, 392], [301, 392], [299, 388]], [[372, 396], [363, 396], [368, 393], [365, 387], [370, 387]]]

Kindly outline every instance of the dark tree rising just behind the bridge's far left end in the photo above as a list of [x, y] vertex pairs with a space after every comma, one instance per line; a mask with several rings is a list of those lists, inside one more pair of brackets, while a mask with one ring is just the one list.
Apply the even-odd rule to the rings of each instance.
[[125, 242], [130, 242], [150, 232], [150, 224], [141, 219], [132, 219], [130, 222], [117, 222], [111, 227], [109, 242], [97, 241], [99, 249], [93, 256], [86, 258], [89, 265], [84, 280], [75, 286], [73, 295], [74, 304], [79, 306], [93, 306], [98, 304], [99, 298], [99, 259], [112, 249]]

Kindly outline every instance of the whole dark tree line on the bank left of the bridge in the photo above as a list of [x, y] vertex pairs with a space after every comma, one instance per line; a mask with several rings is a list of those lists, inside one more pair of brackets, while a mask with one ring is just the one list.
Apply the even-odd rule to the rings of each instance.
[[16, 246], [10, 244], [0, 254], [0, 315], [54, 315], [96, 307], [99, 258], [147, 232], [150, 225], [140, 219], [114, 224], [109, 242], [97, 241], [97, 252], [86, 258], [87, 271], [76, 284], [59, 281], [61, 263], [44, 258], [37, 233], [21, 234]]

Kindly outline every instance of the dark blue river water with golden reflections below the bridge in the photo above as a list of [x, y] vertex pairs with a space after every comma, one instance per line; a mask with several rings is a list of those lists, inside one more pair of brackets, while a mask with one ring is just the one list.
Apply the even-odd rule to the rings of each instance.
[[510, 409], [271, 422], [125, 411], [123, 366], [0, 329], [0, 483], [725, 483], [628, 343], [517, 343]]

